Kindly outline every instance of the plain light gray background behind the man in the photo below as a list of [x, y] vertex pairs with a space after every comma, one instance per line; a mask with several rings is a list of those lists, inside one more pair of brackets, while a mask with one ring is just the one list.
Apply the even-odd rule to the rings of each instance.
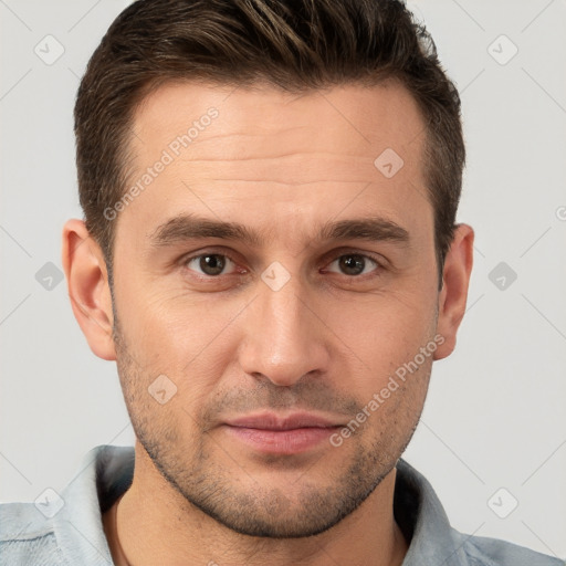
[[[61, 491], [92, 447], [134, 442], [115, 365], [91, 353], [56, 279], [63, 222], [82, 216], [78, 77], [128, 3], [0, 0], [2, 502]], [[405, 458], [458, 530], [564, 558], [566, 1], [409, 6], [462, 95], [459, 220], [475, 228], [476, 247], [458, 348], [434, 365]]]

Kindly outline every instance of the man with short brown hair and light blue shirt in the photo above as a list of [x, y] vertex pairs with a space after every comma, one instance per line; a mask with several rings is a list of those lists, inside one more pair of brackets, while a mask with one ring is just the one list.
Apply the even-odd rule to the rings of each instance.
[[560, 563], [452, 530], [400, 458], [473, 244], [458, 93], [400, 2], [135, 2], [75, 133], [69, 295], [137, 440], [4, 505], [1, 564]]

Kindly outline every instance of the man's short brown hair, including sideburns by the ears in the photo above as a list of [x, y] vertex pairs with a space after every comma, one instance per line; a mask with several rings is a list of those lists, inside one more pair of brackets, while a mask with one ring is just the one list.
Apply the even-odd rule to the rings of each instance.
[[304, 93], [385, 78], [402, 83], [427, 125], [424, 176], [441, 275], [465, 160], [460, 97], [402, 1], [138, 0], [126, 8], [88, 62], [74, 114], [81, 206], [111, 276], [115, 230], [104, 211], [126, 191], [134, 112], [150, 91], [205, 80]]

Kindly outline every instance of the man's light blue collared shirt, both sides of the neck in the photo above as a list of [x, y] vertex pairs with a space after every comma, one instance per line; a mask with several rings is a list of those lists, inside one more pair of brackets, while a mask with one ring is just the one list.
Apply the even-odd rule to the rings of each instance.
[[[60, 494], [0, 505], [0, 565], [107, 566], [102, 513], [129, 488], [134, 448], [99, 446]], [[558, 558], [452, 528], [430, 483], [405, 460], [397, 463], [394, 512], [409, 551], [403, 566], [564, 566]]]

